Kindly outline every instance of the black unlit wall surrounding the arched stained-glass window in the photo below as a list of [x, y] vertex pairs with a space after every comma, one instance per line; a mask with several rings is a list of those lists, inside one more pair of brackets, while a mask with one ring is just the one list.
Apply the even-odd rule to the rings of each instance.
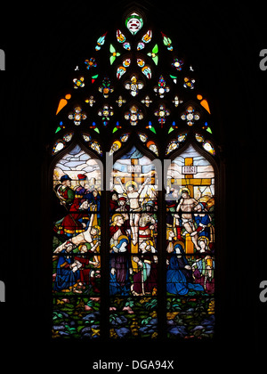
[[[31, 354], [46, 364], [59, 356], [63, 362], [69, 355], [74, 361], [82, 356], [91, 369], [97, 358], [110, 355], [110, 360], [120, 361], [125, 348], [119, 342], [71, 345], [49, 339], [50, 255], [44, 245], [49, 201], [43, 171], [53, 116], [71, 84], [73, 69], [110, 23], [120, 24], [129, 4], [10, 4], [0, 16], [0, 48], [6, 56], [6, 70], [0, 73], [0, 280], [6, 287], [0, 337], [6, 352], [28, 360]], [[244, 357], [256, 361], [267, 334], [267, 303], [259, 300], [259, 284], [267, 280], [267, 70], [259, 67], [259, 53], [267, 48], [265, 7], [263, 2], [211, 1], [145, 1], [141, 7], [198, 67], [216, 120], [214, 137], [222, 150], [225, 193], [219, 207], [225, 209], [225, 218], [223, 253], [217, 254], [214, 343], [153, 341], [150, 354], [147, 344], [126, 343], [126, 352], [139, 360], [174, 359], [176, 367], [186, 355], [203, 355], [206, 362], [213, 354], [232, 356], [236, 362]], [[67, 354], [65, 359], [62, 354]]]

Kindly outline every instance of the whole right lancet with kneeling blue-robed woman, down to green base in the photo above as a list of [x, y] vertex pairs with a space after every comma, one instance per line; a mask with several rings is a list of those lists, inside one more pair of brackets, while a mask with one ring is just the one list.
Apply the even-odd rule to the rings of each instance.
[[167, 170], [167, 337], [214, 335], [214, 179], [191, 145]]

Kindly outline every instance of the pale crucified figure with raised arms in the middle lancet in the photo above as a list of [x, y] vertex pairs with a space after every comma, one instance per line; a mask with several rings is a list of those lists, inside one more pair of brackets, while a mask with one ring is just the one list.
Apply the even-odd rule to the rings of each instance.
[[130, 226], [133, 234], [132, 243], [135, 246], [138, 241], [139, 220], [141, 217], [141, 213], [137, 212], [141, 212], [142, 209], [142, 207], [140, 206], [139, 198], [144, 187], [150, 182], [150, 178], [147, 178], [145, 182], [142, 183], [138, 191], [134, 190], [134, 183], [129, 184], [126, 190], [120, 178], [117, 177], [116, 180], [120, 184], [122, 190], [127, 194], [130, 202]]

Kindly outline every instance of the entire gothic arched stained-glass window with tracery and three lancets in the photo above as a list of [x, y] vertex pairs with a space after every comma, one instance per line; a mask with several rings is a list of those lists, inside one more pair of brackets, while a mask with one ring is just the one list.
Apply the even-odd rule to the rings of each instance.
[[54, 116], [53, 337], [214, 335], [213, 118], [174, 37], [130, 10]]

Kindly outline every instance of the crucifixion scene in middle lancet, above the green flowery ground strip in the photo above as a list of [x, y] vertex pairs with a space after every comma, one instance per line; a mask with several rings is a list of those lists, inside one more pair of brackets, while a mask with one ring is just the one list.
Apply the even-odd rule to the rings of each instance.
[[109, 198], [110, 295], [157, 295], [158, 185], [135, 147], [113, 167]]

